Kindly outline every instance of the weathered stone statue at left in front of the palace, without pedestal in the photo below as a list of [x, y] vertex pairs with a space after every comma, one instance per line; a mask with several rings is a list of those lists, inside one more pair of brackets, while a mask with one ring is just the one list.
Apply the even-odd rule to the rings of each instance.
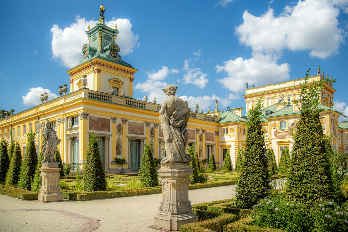
[[58, 162], [54, 159], [54, 154], [56, 153], [58, 144], [62, 141], [58, 139], [56, 132], [51, 128], [51, 122], [46, 121], [45, 129], [42, 130], [42, 140], [44, 144], [42, 145], [42, 154], [44, 159], [41, 163], [55, 163]]

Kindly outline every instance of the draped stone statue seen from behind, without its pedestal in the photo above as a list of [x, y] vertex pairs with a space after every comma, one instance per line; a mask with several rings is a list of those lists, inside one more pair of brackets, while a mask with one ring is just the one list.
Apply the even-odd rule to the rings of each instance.
[[175, 96], [177, 87], [177, 85], [167, 85], [166, 89], [162, 89], [168, 95], [168, 98], [162, 101], [159, 110], [159, 122], [167, 154], [166, 158], [162, 159], [162, 164], [169, 162], [187, 163], [192, 160], [190, 155], [185, 152], [188, 140], [186, 127], [191, 109], [188, 107], [187, 101]]

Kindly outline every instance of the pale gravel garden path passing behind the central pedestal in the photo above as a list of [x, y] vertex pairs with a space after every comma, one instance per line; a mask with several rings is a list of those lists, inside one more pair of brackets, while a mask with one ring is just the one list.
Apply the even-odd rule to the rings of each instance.
[[[189, 191], [191, 204], [232, 198], [236, 185]], [[1, 231], [143, 232], [153, 230], [162, 193], [136, 197], [42, 203], [0, 195]], [[11, 210], [3, 212], [5, 209]], [[13, 211], [15, 209], [19, 209]], [[22, 211], [35, 209], [34, 211]], [[45, 211], [40, 211], [45, 209]], [[94, 220], [94, 221], [93, 221]], [[100, 221], [97, 221], [100, 220]], [[25, 224], [27, 223], [27, 224]], [[97, 229], [94, 230], [94, 228]], [[93, 230], [92, 230], [93, 229]]]

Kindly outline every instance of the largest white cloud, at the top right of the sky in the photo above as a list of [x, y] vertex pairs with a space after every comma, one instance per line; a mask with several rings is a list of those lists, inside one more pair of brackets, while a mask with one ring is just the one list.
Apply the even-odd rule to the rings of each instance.
[[298, 1], [278, 16], [272, 8], [259, 17], [246, 10], [235, 33], [254, 53], [310, 50], [309, 56], [325, 59], [336, 54], [343, 41], [338, 14], [339, 9], [325, 0]]

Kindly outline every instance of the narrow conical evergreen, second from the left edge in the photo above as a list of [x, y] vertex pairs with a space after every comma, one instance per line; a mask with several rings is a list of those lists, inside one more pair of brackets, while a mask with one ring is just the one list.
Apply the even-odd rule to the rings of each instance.
[[19, 173], [22, 166], [21, 147], [18, 142], [15, 142], [13, 154], [11, 156], [10, 167], [6, 175], [6, 184], [18, 184]]

